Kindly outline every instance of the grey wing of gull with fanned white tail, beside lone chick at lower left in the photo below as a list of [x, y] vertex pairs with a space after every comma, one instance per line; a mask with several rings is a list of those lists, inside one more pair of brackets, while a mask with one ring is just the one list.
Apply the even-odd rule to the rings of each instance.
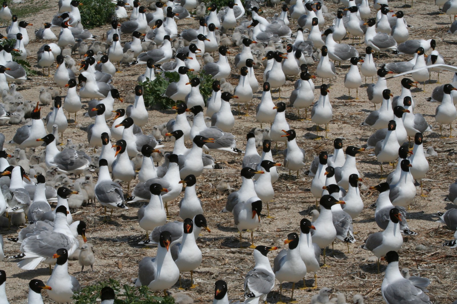
[[21, 251], [31, 253], [43, 258], [52, 258], [56, 248], [70, 249], [71, 243], [69, 237], [63, 233], [44, 231], [27, 237], [22, 241]]

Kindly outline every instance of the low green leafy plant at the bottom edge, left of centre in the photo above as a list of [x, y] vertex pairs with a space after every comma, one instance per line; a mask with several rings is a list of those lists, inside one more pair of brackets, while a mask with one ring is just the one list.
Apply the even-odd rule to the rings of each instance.
[[[105, 282], [97, 282], [90, 284], [81, 289], [79, 293], [73, 295], [75, 304], [93, 304], [97, 298], [100, 298], [100, 291], [103, 287], [110, 286], [114, 289], [116, 299], [114, 304], [174, 304], [175, 300], [172, 297], [157, 297], [147, 286], [131, 287], [110, 278]], [[121, 292], [122, 288], [122, 294]]]

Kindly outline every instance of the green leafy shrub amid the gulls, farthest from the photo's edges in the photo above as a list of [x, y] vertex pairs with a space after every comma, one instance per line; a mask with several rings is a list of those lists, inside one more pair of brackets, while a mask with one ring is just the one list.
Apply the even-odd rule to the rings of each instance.
[[[192, 72], [189, 72], [188, 76], [189, 79], [192, 79], [193, 77], [200, 78], [200, 93], [206, 103], [207, 98], [213, 93], [213, 77], [203, 73], [199, 73], [195, 76]], [[165, 78], [168, 78], [168, 80]], [[179, 73], [165, 72], [165, 78], [158, 75], [153, 81], [140, 83], [140, 85], [143, 86], [144, 104], [147, 107], [154, 109], [170, 109], [175, 105], [174, 100], [162, 95], [165, 93], [170, 82], [177, 82], [179, 80]]]

